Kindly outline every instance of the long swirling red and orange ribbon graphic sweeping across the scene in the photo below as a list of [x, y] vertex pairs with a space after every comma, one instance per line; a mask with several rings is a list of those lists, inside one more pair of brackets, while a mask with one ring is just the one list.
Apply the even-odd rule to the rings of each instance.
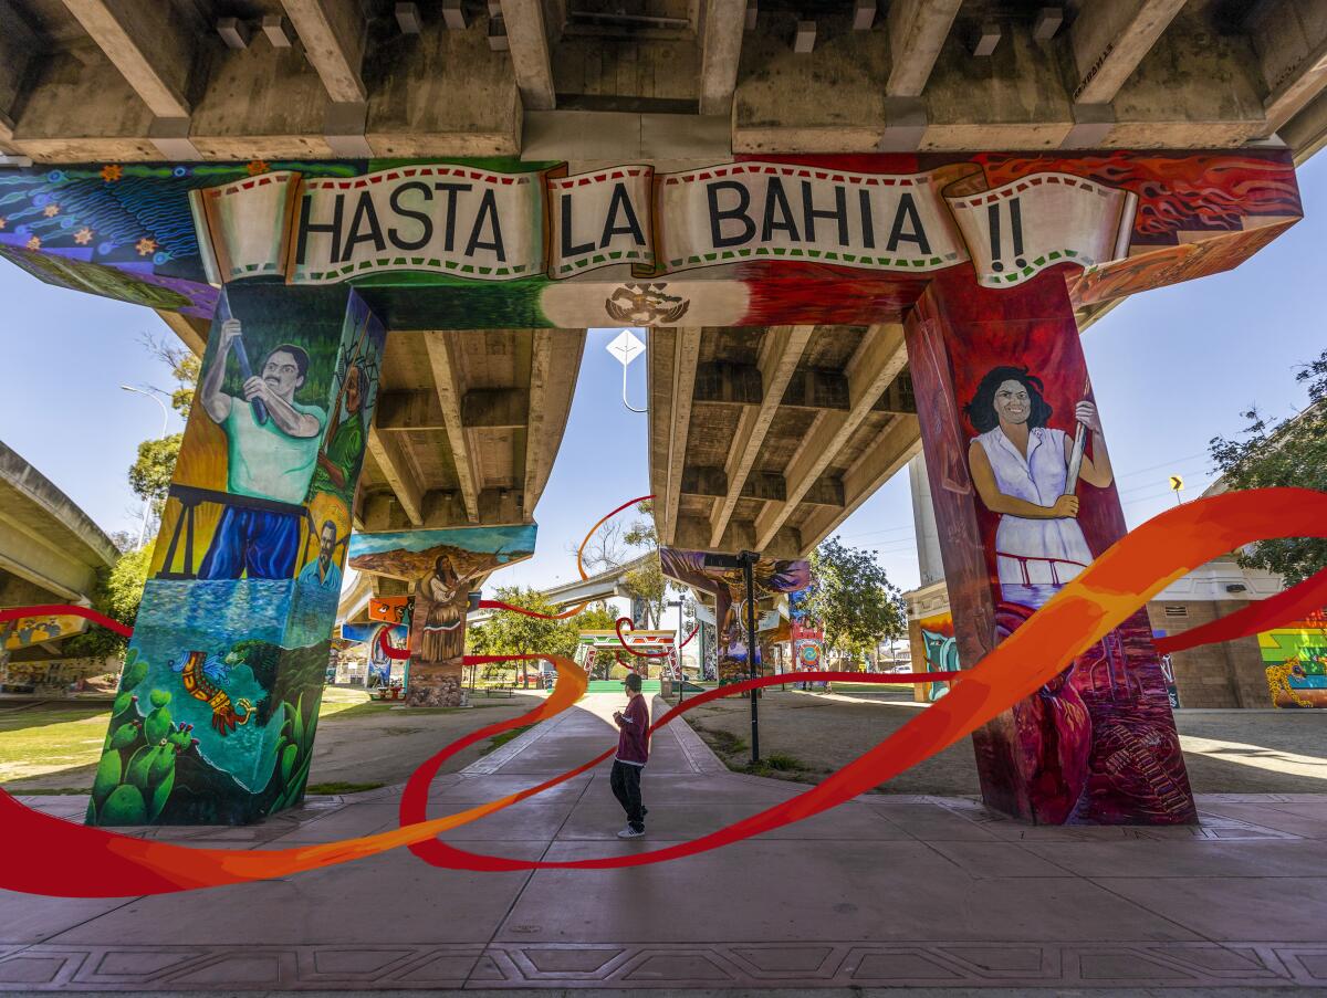
[[[1169, 510], [1121, 537], [1068, 583], [1023, 626], [1006, 638], [941, 701], [930, 705], [877, 746], [803, 794], [717, 832], [662, 849], [632, 852], [576, 863], [541, 863], [472, 853], [437, 840], [439, 832], [475, 821], [557, 783], [585, 772], [609, 752], [537, 787], [510, 794], [456, 815], [426, 820], [429, 782], [447, 758], [467, 745], [522, 725], [545, 721], [571, 707], [585, 691], [587, 677], [560, 656], [543, 658], [557, 668], [552, 694], [523, 717], [490, 725], [455, 742], [417, 770], [401, 802], [403, 825], [360, 839], [272, 851], [191, 849], [166, 841], [135, 839], [86, 828], [24, 807], [0, 794], [4, 851], [0, 887], [66, 897], [127, 897], [190, 891], [222, 884], [289, 876], [407, 845], [435, 865], [506, 871], [543, 867], [637, 867], [691, 856], [811, 818], [884, 783], [953, 745], [1015, 702], [1032, 694], [1080, 652], [1101, 640], [1156, 593], [1213, 557], [1245, 544], [1286, 536], [1327, 536], [1327, 494], [1303, 488], [1267, 488], [1200, 499]], [[1229, 636], [1254, 633], [1299, 614], [1306, 601], [1327, 589], [1327, 571], [1258, 605], [1242, 610]], [[1250, 608], [1251, 609], [1251, 608]], [[27, 614], [27, 612], [24, 612]], [[0, 614], [0, 620], [5, 617]], [[1188, 632], [1181, 638], [1193, 641]], [[1208, 633], [1217, 633], [1209, 630]], [[1225, 633], [1225, 632], [1222, 632]], [[1168, 642], [1169, 644], [1169, 642]], [[1172, 644], [1172, 649], [1185, 646]], [[472, 661], [484, 661], [475, 657]], [[799, 673], [799, 679], [847, 678], [843, 673]], [[860, 681], [863, 677], [852, 674]], [[718, 695], [787, 682], [771, 676], [725, 686], [674, 707], [657, 721], [658, 730], [686, 710]]]

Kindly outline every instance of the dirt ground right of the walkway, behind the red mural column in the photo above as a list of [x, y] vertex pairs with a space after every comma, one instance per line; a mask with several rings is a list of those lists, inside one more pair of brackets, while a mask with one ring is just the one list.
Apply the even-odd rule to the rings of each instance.
[[[817, 783], [825, 774], [916, 717], [910, 693], [766, 691], [760, 698], [760, 755], [790, 756], [783, 771], [760, 775]], [[751, 702], [706, 703], [686, 721], [731, 768], [750, 759]], [[1196, 794], [1327, 792], [1327, 711], [1180, 710], [1176, 713]], [[878, 794], [977, 796], [969, 739], [946, 748], [876, 790]]]

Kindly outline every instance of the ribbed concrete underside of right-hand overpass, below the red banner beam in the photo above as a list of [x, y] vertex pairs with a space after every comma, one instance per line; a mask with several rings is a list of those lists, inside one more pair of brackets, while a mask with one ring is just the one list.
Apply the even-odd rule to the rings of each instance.
[[799, 557], [921, 449], [897, 324], [654, 329], [649, 385], [665, 544]]

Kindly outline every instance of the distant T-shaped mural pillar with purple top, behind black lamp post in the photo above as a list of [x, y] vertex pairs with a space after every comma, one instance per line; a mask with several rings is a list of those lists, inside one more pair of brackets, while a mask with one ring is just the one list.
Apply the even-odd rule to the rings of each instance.
[[[714, 593], [719, 685], [748, 678], [746, 581], [742, 569], [706, 568], [703, 551], [681, 548], [660, 548], [660, 564], [669, 579]], [[774, 593], [792, 593], [811, 584], [811, 563], [760, 559], [752, 567], [752, 576], [758, 600]], [[759, 617], [759, 613], [756, 616]], [[760, 654], [759, 640], [755, 648], [755, 665], [758, 674], [770, 674], [771, 669]]]

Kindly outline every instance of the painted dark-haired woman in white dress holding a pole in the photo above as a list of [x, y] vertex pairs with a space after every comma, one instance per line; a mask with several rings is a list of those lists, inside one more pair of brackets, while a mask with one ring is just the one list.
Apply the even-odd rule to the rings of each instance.
[[[1066, 487], [1074, 437], [1047, 426], [1051, 406], [1042, 380], [1027, 368], [1003, 365], [982, 378], [963, 406], [977, 429], [967, 450], [973, 484], [986, 508], [999, 514], [995, 561], [1001, 596], [1036, 609], [1092, 561], [1078, 523], [1079, 499]], [[1087, 399], [1074, 415], [1092, 435], [1078, 478], [1105, 488], [1113, 480], [1111, 457], [1096, 406]]]

